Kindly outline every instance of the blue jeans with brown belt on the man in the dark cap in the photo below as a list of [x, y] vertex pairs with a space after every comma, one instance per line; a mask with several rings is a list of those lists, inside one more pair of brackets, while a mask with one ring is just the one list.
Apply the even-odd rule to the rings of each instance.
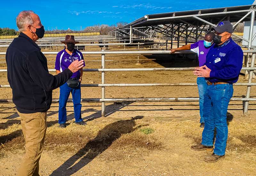
[[214, 129], [216, 127], [216, 139], [214, 153], [225, 155], [228, 139], [227, 111], [230, 98], [233, 96], [232, 84], [217, 84], [207, 87], [204, 94], [204, 130], [202, 144], [213, 145]]

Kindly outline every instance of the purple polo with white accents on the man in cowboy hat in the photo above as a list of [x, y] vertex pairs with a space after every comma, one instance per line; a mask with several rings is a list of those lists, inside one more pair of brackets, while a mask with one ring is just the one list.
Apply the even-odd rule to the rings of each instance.
[[[83, 59], [84, 59], [83, 54], [80, 51], [74, 49], [74, 52], [72, 53], [72, 55], [70, 55], [64, 49], [60, 51], [56, 56], [55, 69], [60, 70], [60, 72], [62, 72], [63, 70], [67, 69], [68, 66], [74, 60], [83, 60]], [[85, 63], [84, 63], [84, 66], [85, 66]], [[79, 78], [79, 76], [80, 76], [80, 70], [73, 73], [71, 78]]]

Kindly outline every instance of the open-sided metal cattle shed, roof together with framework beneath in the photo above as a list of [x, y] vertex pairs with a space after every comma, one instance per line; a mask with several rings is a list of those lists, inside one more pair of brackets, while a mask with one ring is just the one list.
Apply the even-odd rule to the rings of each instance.
[[[251, 21], [255, 9], [256, 5], [243, 5], [145, 15], [124, 27], [109, 32], [109, 35], [115, 35], [116, 38], [128, 38], [129, 27], [132, 27], [134, 38], [151, 39], [157, 38], [160, 34], [164, 39], [171, 40], [171, 47], [173, 40], [177, 41], [179, 47], [180, 41], [188, 44], [203, 39], [205, 33], [211, 27], [216, 26], [223, 20], [235, 23], [233, 29], [236, 29], [239, 23]], [[242, 40], [249, 41], [249, 39], [244, 39], [236, 34], [232, 35], [239, 42]]]

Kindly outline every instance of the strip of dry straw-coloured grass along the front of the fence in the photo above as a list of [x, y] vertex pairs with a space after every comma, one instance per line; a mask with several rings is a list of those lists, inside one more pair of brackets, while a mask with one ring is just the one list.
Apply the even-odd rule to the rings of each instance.
[[[154, 129], [152, 134], [143, 134], [144, 126]], [[121, 148], [141, 148], [145, 150], [171, 149], [171, 146], [187, 147], [201, 142], [202, 129], [194, 121], [172, 120], [159, 123], [155, 119], [109, 119], [90, 121], [86, 126], [70, 123], [61, 129], [58, 124], [48, 127], [44, 149], [62, 153], [88, 149], [101, 151]], [[20, 124], [13, 124], [0, 130], [1, 153], [4, 151], [24, 150], [24, 138]], [[173, 141], [175, 141], [173, 143]], [[175, 144], [175, 145], [174, 145]], [[251, 122], [231, 122], [227, 150], [253, 152], [256, 144], [256, 126]], [[86, 150], [87, 150], [86, 149]], [[85, 149], [84, 149], [85, 150]]]

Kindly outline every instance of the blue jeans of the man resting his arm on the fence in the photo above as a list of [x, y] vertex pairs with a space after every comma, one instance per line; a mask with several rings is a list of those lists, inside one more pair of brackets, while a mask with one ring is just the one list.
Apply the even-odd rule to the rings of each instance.
[[204, 110], [204, 93], [207, 89], [207, 83], [205, 81], [205, 78], [199, 77], [196, 80], [197, 87], [198, 87], [198, 93], [199, 93], [199, 110], [200, 110], [200, 123], [204, 122], [204, 116], [203, 116], [203, 110]]

